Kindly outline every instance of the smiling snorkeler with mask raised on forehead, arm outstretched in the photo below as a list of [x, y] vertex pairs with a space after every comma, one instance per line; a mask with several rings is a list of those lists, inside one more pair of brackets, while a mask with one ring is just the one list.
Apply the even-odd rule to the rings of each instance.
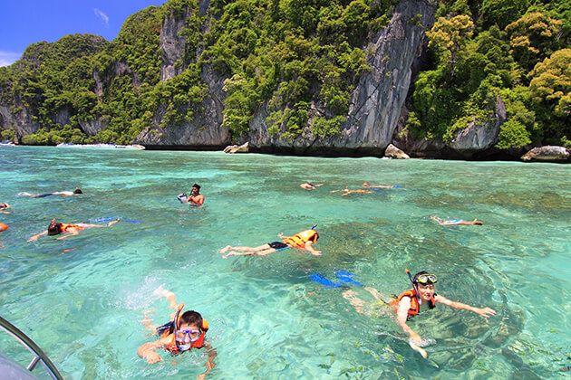
[[[436, 294], [434, 284], [436, 284], [438, 279], [435, 275], [430, 274], [427, 271], [419, 271], [413, 277], [411, 277], [410, 271], [407, 270], [407, 273], [412, 283], [412, 289], [402, 292], [400, 296], [390, 301], [385, 300], [382, 297], [382, 294], [377, 290], [372, 288], [365, 289], [368, 290], [375, 299], [393, 309], [397, 315], [397, 324], [402, 328], [402, 331], [410, 337], [409, 346], [424, 358], [428, 357], [428, 353], [424, 348], [421, 348], [421, 346], [424, 346], [421, 336], [412, 330], [412, 328], [410, 328], [406, 323], [410, 318], [419, 315], [421, 310], [434, 309], [437, 303], [441, 303], [452, 309], [469, 310], [484, 318], [496, 315], [496, 311], [493, 309], [475, 308], [465, 303], [447, 299], [440, 294]], [[357, 312], [363, 313], [363, 305], [365, 302], [363, 299], [358, 299], [353, 290], [345, 290], [344, 299], [349, 300]]]

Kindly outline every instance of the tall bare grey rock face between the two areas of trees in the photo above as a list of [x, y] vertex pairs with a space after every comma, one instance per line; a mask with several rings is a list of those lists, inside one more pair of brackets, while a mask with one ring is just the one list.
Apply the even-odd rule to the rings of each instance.
[[[378, 33], [367, 50], [372, 70], [363, 75], [353, 91], [347, 121], [336, 138], [315, 138], [306, 128], [295, 141], [272, 138], [267, 134], [266, 106], [251, 123], [248, 141], [262, 150], [323, 153], [358, 150], [362, 154], [382, 155], [392, 141], [404, 100], [411, 86], [412, 66], [421, 55], [424, 30], [433, 23], [434, 8], [426, 1], [403, 0], [397, 5], [390, 24]], [[420, 18], [419, 18], [420, 15]], [[319, 111], [321, 105], [313, 103]]]

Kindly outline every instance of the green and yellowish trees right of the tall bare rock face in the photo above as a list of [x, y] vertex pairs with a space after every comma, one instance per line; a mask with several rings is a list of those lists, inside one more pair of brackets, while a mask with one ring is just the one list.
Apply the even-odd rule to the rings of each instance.
[[496, 147], [568, 144], [568, 1], [444, 1], [427, 36], [431, 67], [411, 96], [409, 130], [417, 138], [450, 141], [467, 121], [492, 119], [502, 100], [508, 121]]

